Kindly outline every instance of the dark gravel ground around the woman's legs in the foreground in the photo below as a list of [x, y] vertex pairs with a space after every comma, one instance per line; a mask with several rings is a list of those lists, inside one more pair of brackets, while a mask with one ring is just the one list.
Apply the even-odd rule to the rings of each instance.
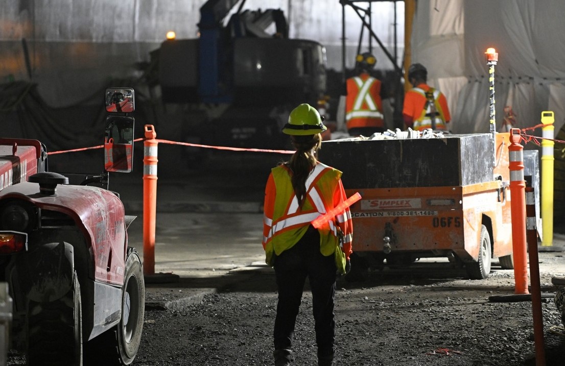
[[[540, 253], [547, 365], [563, 365], [565, 338], [552, 277], [561, 253]], [[498, 267], [499, 268], [499, 267]], [[364, 282], [338, 281], [336, 365], [535, 365], [532, 302], [514, 295], [514, 271], [464, 280], [446, 264], [385, 269]], [[183, 287], [223, 284], [200, 303], [184, 304]], [[276, 312], [270, 268], [221, 279], [184, 278], [149, 286], [144, 339], [134, 365], [271, 365]], [[294, 345], [295, 365], [316, 365], [311, 296], [305, 291]]]

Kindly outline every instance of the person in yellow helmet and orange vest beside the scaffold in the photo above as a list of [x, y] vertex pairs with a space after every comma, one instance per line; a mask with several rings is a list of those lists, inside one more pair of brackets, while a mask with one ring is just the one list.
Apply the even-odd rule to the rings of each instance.
[[351, 136], [384, 132], [381, 81], [370, 75], [377, 59], [371, 53], [355, 58], [358, 76], [347, 79], [345, 125]]

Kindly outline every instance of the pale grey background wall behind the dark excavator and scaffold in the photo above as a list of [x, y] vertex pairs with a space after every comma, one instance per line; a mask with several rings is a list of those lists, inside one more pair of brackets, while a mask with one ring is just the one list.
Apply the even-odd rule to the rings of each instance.
[[[139, 63], [159, 47], [167, 31], [196, 38], [205, 0], [3, 0], [0, 2], [0, 83], [31, 80], [54, 107], [72, 106], [110, 80], [137, 80]], [[368, 3], [356, 3], [367, 7]], [[239, 4], [234, 7], [236, 10]], [[372, 3], [373, 30], [393, 53], [395, 2]], [[402, 59], [403, 2], [397, 7], [398, 58]], [[319, 41], [328, 68], [342, 69], [339, 0], [248, 0], [244, 9], [280, 8], [290, 37]], [[346, 7], [346, 67], [352, 67], [360, 20]], [[365, 32], [364, 43], [367, 42]], [[373, 41], [379, 68], [392, 69]], [[97, 103], [93, 99], [92, 103]]]

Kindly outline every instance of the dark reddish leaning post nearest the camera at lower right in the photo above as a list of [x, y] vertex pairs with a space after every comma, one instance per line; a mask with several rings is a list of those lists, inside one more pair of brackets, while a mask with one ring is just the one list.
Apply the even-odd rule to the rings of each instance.
[[532, 187], [525, 188], [526, 238], [530, 282], [532, 284], [533, 336], [536, 350], [536, 366], [545, 366], [544, 318], [541, 310], [540, 264], [537, 255], [536, 197]]

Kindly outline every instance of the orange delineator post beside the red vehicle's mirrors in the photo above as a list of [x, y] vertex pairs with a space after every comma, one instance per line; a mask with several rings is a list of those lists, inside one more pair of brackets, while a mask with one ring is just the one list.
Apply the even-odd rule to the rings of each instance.
[[145, 125], [143, 158], [143, 272], [155, 274], [155, 222], [157, 217], [157, 133]]

